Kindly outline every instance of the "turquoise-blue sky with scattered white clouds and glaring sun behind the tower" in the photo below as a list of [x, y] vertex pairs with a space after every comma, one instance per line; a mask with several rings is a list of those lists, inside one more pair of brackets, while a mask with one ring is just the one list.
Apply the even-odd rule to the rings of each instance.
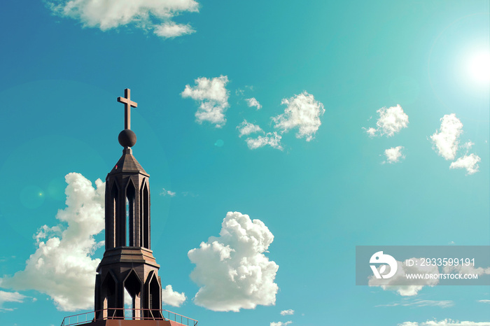
[[164, 309], [490, 325], [489, 286], [355, 285], [356, 246], [490, 245], [489, 1], [118, 3], [0, 12], [1, 325], [92, 309], [125, 88]]

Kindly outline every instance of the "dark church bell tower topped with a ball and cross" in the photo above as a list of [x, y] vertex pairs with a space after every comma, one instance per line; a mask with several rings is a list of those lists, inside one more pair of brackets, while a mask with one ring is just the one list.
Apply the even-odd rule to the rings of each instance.
[[123, 156], [106, 177], [106, 250], [95, 278], [94, 319], [124, 319], [125, 293], [132, 301], [132, 319], [164, 319], [160, 265], [151, 250], [150, 175], [131, 149], [137, 140], [131, 108], [138, 104], [129, 89], [118, 102], [125, 104], [125, 129], [118, 137]]

